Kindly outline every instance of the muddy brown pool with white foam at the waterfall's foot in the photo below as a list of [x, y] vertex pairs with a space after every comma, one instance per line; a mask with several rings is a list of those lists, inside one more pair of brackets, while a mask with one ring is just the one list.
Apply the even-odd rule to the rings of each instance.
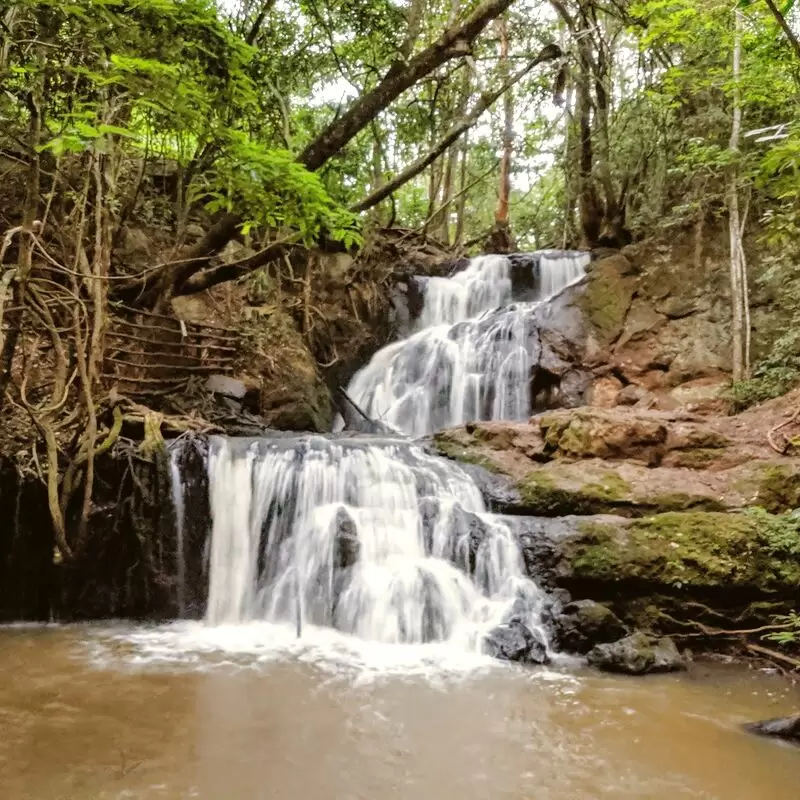
[[800, 798], [800, 748], [739, 728], [798, 709], [776, 676], [625, 679], [284, 635], [0, 628], [0, 797]]

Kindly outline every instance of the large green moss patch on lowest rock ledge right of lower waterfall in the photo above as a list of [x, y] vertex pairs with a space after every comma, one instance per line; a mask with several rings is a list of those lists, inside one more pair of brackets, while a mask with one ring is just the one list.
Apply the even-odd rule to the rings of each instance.
[[770, 553], [748, 514], [669, 512], [624, 526], [584, 522], [570, 561], [576, 578], [674, 588], [787, 590], [800, 563]]

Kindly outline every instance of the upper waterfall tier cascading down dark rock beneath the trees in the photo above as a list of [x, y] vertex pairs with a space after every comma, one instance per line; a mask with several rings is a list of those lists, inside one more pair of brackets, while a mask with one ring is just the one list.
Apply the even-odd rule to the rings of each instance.
[[376, 353], [349, 396], [371, 419], [412, 436], [468, 420], [525, 419], [538, 358], [535, 311], [579, 280], [588, 262], [585, 253], [528, 256], [533, 299], [515, 304], [505, 256], [474, 258], [449, 278], [425, 279], [415, 332]]

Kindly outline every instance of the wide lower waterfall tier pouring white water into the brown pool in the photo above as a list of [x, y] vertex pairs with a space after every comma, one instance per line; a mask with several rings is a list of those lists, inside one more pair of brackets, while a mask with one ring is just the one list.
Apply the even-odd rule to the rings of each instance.
[[512, 531], [456, 464], [376, 437], [215, 437], [208, 468], [209, 624], [480, 651], [515, 617], [546, 641]]

